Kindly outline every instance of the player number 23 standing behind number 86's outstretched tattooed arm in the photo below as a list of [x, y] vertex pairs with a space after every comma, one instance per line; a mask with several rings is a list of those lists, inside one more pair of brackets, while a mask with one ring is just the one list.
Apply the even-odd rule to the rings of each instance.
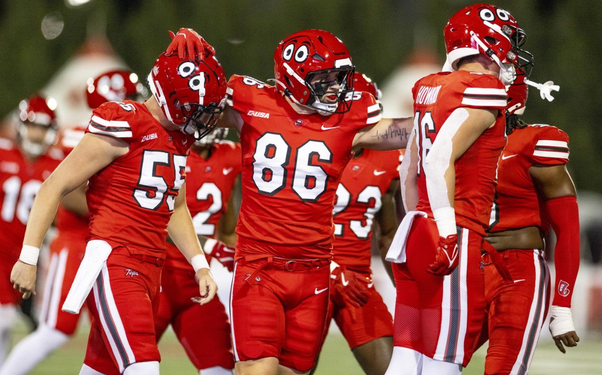
[[[356, 72], [353, 88], [356, 93], [372, 94], [380, 103], [380, 90], [367, 76]], [[367, 374], [384, 374], [393, 352], [393, 317], [374, 288], [370, 260], [374, 230], [385, 262], [397, 229], [394, 194], [399, 188], [398, 167], [397, 150], [356, 151], [343, 171], [335, 201], [324, 338], [334, 319]], [[385, 263], [390, 269], [391, 263]]]

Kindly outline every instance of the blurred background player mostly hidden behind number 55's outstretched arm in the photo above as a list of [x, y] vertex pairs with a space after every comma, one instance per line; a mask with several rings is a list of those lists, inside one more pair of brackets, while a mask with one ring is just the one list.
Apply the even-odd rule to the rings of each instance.
[[[111, 70], [96, 79], [90, 79], [85, 88], [88, 106], [95, 109], [105, 102], [139, 101], [137, 84], [138, 77], [126, 70]], [[60, 146], [65, 155], [75, 148], [84, 132], [85, 126], [64, 130]], [[50, 245], [50, 265], [43, 292], [40, 326], [13, 348], [0, 367], [0, 375], [28, 373], [75, 333], [79, 314], [66, 313], [61, 306], [84, 257], [89, 222], [86, 184], [67, 194], [58, 207], [55, 220], [58, 233]]]

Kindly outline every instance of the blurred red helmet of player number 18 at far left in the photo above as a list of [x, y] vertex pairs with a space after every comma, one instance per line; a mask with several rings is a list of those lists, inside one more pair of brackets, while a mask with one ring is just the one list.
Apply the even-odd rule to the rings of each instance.
[[[33, 95], [19, 103], [17, 121], [17, 143], [32, 157], [38, 157], [57, 142], [57, 118], [54, 109], [56, 100], [52, 97]], [[32, 132], [30, 127], [39, 127], [43, 132]]]

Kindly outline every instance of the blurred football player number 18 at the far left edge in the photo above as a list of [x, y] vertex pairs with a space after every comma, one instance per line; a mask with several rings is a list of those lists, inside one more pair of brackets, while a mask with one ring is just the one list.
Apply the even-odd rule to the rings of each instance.
[[10, 329], [14, 324], [19, 291], [10, 284], [10, 269], [19, 258], [25, 236], [29, 209], [40, 185], [63, 159], [57, 142], [57, 120], [54, 99], [31, 96], [22, 100], [17, 110], [16, 142], [0, 139], [0, 220], [2, 257], [0, 257], [0, 364], [4, 361]]

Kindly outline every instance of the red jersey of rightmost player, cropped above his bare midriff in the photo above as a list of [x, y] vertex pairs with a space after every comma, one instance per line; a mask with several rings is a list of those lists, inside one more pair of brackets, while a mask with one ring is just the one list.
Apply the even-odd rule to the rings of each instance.
[[490, 232], [539, 227], [550, 229], [542, 197], [529, 173], [533, 165], [568, 162], [568, 135], [554, 126], [529, 125], [515, 129], [501, 154]]

